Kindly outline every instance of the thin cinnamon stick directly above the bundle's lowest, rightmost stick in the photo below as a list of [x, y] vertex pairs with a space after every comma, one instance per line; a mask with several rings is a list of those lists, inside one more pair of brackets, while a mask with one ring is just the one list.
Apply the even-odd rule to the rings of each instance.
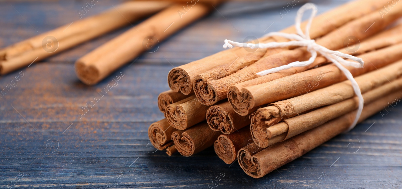
[[[402, 70], [401, 70], [402, 71]], [[392, 81], [392, 83], [387, 83], [383, 86], [377, 87], [367, 93], [363, 94], [363, 99], [365, 104], [369, 104], [376, 99], [379, 99], [387, 94], [393, 93], [394, 91], [400, 90], [402, 88], [402, 79], [396, 79]], [[357, 97], [351, 98], [348, 100], [344, 100], [342, 102], [338, 102], [336, 104], [332, 104], [329, 106], [325, 106], [320, 109], [316, 109], [314, 111], [308, 112], [306, 114], [301, 114], [299, 116], [295, 116], [293, 118], [288, 118], [283, 120], [276, 125], [269, 127], [260, 127], [254, 125], [252, 128], [252, 136], [254, 138], [258, 138], [255, 143], [265, 148], [270, 146], [277, 141], [276, 136], [280, 134], [286, 134], [286, 136], [280, 137], [281, 141], [286, 140], [292, 136], [305, 132], [306, 130], [310, 130], [315, 128], [321, 124], [324, 124], [328, 120], [332, 120], [348, 112], [355, 110], [359, 105], [359, 100]], [[256, 115], [255, 115], [256, 116]], [[256, 116], [258, 117], [258, 116]], [[254, 116], [253, 116], [254, 121]], [[258, 123], [257, 123], [258, 124]], [[265, 133], [265, 138], [263, 137]], [[275, 138], [275, 142], [271, 141], [271, 139]]]

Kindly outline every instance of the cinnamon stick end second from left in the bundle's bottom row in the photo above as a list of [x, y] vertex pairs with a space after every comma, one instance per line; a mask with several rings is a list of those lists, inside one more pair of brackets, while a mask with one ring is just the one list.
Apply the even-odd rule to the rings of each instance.
[[201, 122], [187, 130], [178, 130], [172, 133], [172, 139], [177, 151], [183, 156], [191, 156], [212, 146], [221, 134], [208, 127], [207, 122]]

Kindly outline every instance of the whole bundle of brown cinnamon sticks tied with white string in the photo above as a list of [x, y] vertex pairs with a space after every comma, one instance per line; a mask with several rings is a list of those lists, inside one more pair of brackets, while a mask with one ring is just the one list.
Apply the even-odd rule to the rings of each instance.
[[[379, 14], [384, 7], [387, 14]], [[359, 122], [402, 98], [401, 17], [402, 4], [356, 0], [312, 20], [310, 38], [317, 44], [365, 62], [362, 68], [346, 67], [363, 94]], [[359, 48], [344, 43], [351, 36], [359, 39], [354, 44]], [[311, 65], [260, 76], [256, 73], [312, 55], [306, 47], [248, 50], [228, 49], [168, 73], [170, 90], [158, 97], [166, 118], [148, 130], [156, 148], [191, 156], [214, 146], [225, 163], [238, 160], [247, 175], [260, 178], [351, 128], [359, 100], [330, 60], [317, 55]]]

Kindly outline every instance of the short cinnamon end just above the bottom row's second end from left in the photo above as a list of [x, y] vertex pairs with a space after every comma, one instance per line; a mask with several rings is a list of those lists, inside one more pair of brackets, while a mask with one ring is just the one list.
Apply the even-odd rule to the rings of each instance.
[[165, 117], [174, 128], [185, 130], [205, 120], [209, 106], [199, 103], [195, 96], [190, 96], [166, 108]]

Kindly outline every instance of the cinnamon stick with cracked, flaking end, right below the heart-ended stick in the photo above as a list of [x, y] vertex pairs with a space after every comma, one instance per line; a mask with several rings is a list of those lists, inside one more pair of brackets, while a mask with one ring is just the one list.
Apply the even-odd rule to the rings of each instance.
[[[402, 61], [356, 77], [362, 93], [384, 85], [402, 75]], [[271, 138], [268, 127], [308, 110], [331, 105], [355, 96], [350, 81], [343, 81], [312, 91], [303, 96], [290, 98], [259, 108], [252, 114], [251, 130], [258, 138]], [[265, 137], [266, 136], [266, 137]], [[260, 139], [262, 140], [262, 139]]]

